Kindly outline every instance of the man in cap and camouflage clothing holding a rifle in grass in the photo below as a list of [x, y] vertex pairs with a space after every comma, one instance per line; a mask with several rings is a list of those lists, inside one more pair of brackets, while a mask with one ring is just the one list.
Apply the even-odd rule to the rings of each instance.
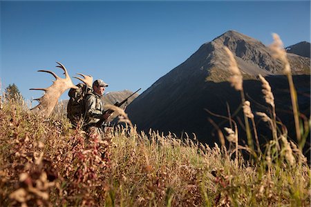
[[102, 128], [96, 126], [100, 119], [108, 119], [111, 114], [104, 113], [104, 105], [102, 103], [102, 95], [104, 95], [105, 88], [108, 86], [107, 83], [101, 79], [97, 79], [93, 82], [93, 91], [88, 91], [85, 99], [85, 119], [84, 128], [88, 133], [88, 137], [102, 138]]

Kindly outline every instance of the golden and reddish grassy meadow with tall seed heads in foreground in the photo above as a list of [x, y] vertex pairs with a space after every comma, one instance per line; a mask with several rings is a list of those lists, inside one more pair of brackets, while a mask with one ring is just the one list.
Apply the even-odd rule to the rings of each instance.
[[[301, 119], [293, 106], [297, 142], [288, 139], [287, 129], [276, 121], [264, 77], [260, 81], [270, 113], [254, 115], [241, 72], [228, 55], [230, 81], [241, 91], [245, 146], [229, 118], [231, 127], [218, 130], [220, 144], [207, 146], [195, 135], [179, 139], [153, 130], [138, 132], [122, 110], [109, 106], [126, 127], [106, 128], [103, 139], [87, 138], [62, 114], [45, 119], [21, 100], [4, 99], [0, 206], [310, 206], [310, 166], [301, 152], [310, 120]], [[258, 143], [254, 116], [272, 130], [265, 144]]]

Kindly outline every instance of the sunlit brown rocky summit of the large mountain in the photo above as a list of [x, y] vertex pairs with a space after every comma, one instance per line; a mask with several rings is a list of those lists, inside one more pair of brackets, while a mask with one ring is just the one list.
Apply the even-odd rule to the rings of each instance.
[[[272, 73], [281, 70], [281, 64], [272, 58], [269, 48], [261, 41], [240, 32], [229, 30], [213, 39], [210, 43], [214, 47], [214, 59], [211, 61], [213, 67], [211, 67], [211, 70], [214, 70], [214, 68], [228, 68], [229, 62], [227, 62], [227, 52], [223, 49], [224, 46], [227, 46], [236, 56], [239, 68], [246, 75], [272, 75]], [[219, 72], [215, 70], [211, 71], [210, 74], [213, 76], [209, 78], [212, 81], [219, 76]]]

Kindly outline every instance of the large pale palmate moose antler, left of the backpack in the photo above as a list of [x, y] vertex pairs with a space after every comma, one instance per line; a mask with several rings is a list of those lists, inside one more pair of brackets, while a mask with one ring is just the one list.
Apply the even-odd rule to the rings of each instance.
[[40, 112], [44, 115], [44, 117], [49, 117], [53, 108], [56, 106], [59, 97], [65, 92], [65, 90], [69, 88], [77, 89], [77, 86], [73, 84], [71, 81], [68, 72], [65, 66], [62, 63], [56, 62], [59, 66], [57, 68], [62, 68], [64, 70], [65, 78], [62, 79], [58, 77], [54, 72], [50, 70], [38, 70], [38, 72], [48, 72], [55, 77], [55, 81], [53, 81], [52, 86], [48, 88], [30, 88], [30, 90], [44, 90], [44, 96], [39, 99], [35, 99], [39, 101], [39, 105], [31, 108], [30, 110], [34, 110], [35, 108], [39, 109]]

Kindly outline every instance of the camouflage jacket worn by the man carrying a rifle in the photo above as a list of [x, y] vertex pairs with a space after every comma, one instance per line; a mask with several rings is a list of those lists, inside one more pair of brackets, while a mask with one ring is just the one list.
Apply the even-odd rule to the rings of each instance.
[[104, 103], [102, 103], [102, 96], [95, 94], [95, 92], [88, 92], [85, 101], [84, 124], [90, 126], [102, 118]]

